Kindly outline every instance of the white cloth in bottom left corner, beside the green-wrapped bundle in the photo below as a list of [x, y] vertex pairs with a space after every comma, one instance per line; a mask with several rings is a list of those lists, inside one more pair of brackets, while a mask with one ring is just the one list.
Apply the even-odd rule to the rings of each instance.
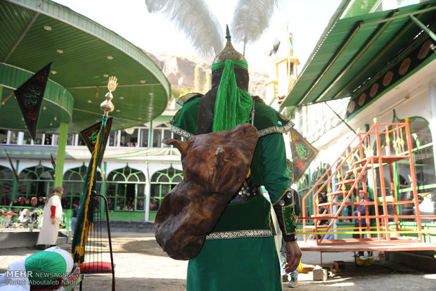
[[1, 291], [30, 290], [25, 261], [25, 259], [23, 259], [23, 261], [15, 261], [15, 263], [12, 263], [8, 266], [8, 271], [6, 273], [0, 274]]

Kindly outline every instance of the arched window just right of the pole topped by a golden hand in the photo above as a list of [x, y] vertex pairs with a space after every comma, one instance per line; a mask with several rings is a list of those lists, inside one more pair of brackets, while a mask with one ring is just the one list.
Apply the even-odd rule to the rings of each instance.
[[106, 197], [110, 210], [143, 211], [146, 175], [127, 166], [108, 175]]

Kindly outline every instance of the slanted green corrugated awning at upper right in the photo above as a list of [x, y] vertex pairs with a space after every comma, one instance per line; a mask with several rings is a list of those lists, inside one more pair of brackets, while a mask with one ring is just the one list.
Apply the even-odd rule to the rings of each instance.
[[331, 22], [281, 109], [352, 96], [425, 33], [411, 15], [434, 31], [436, 1]]

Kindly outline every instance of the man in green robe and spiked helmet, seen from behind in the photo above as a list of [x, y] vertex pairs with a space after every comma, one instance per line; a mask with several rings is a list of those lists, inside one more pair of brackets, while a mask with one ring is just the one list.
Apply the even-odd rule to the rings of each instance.
[[[207, 235], [198, 256], [189, 261], [187, 290], [281, 290], [271, 204], [286, 241], [288, 273], [297, 268], [301, 257], [283, 141], [283, 133], [293, 123], [247, 93], [247, 62], [231, 45], [229, 32], [226, 38], [212, 64], [212, 89], [179, 100], [182, 108], [171, 121], [171, 131], [189, 139], [251, 123], [259, 139], [250, 176]], [[271, 203], [260, 186], [267, 189]]]

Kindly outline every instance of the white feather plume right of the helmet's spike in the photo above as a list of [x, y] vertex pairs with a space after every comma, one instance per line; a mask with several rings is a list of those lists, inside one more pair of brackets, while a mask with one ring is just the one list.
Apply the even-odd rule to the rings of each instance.
[[231, 22], [231, 37], [236, 41], [257, 41], [268, 28], [278, 0], [239, 0]]

